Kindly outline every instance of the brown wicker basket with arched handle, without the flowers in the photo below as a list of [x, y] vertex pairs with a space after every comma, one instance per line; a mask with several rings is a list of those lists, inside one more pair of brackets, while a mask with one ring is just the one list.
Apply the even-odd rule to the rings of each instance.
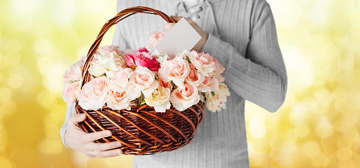
[[[106, 22], [92, 44], [83, 67], [81, 87], [90, 79], [88, 68], [106, 31], [136, 13], [160, 15], [167, 22], [174, 22], [165, 13], [152, 8], [137, 6], [120, 11], [118, 15]], [[107, 106], [97, 111], [86, 111], [76, 102], [76, 112], [85, 113], [87, 116], [86, 120], [81, 123], [83, 130], [85, 132], [110, 130], [111, 137], [99, 139], [96, 142], [119, 141], [123, 144], [120, 149], [125, 155], [151, 155], [173, 151], [189, 144], [204, 117], [203, 108], [203, 104], [200, 102], [181, 112], [171, 107], [165, 113], [158, 113], [153, 107], [146, 104], [132, 106], [130, 111], [125, 109], [115, 111]]]

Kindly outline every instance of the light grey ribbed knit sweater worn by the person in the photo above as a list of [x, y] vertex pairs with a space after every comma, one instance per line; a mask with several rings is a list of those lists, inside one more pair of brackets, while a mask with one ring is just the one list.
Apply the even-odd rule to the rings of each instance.
[[[176, 151], [134, 156], [133, 167], [249, 167], [244, 102], [248, 100], [275, 112], [284, 102], [286, 69], [277, 42], [275, 22], [265, 0], [199, 0], [195, 6], [170, 0], [118, 0], [118, 11], [148, 6], [167, 15], [192, 18], [209, 38], [202, 51], [219, 59], [230, 88], [227, 109], [205, 118], [193, 141]], [[120, 49], [145, 47], [151, 31], [162, 31], [165, 21], [137, 14], [116, 26], [113, 45]], [[60, 131], [74, 115], [69, 106]], [[120, 163], [119, 163], [120, 164]]]

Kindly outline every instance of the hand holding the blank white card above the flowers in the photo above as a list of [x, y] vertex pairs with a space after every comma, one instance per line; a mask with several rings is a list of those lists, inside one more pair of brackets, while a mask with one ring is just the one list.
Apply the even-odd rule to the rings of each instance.
[[[181, 20], [182, 17], [179, 16], [171, 16], [176, 22], [179, 22], [179, 20]], [[196, 30], [198, 31], [198, 34], [200, 34], [201, 39], [200, 41], [193, 47], [193, 50], [200, 52], [202, 50], [202, 47], [204, 47], [206, 41], [207, 41], [207, 37], [209, 37], [209, 34], [207, 34], [206, 31], [204, 31], [198, 24], [196, 24], [193, 20], [186, 18], [186, 20], [190, 23], [190, 25]], [[172, 27], [174, 27], [176, 23], [168, 23], [167, 25], [165, 25], [164, 29], [169, 30], [172, 29]]]

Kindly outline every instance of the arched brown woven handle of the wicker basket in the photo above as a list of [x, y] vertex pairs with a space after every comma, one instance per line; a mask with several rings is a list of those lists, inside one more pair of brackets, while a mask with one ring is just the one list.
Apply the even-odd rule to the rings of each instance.
[[125, 18], [129, 17], [130, 15], [134, 15], [136, 13], [147, 13], [147, 14], [152, 14], [152, 15], [159, 15], [161, 18], [163, 18], [168, 23], [175, 22], [175, 20], [170, 18], [165, 13], [162, 13], [161, 11], [155, 10], [153, 8], [148, 8], [148, 7], [144, 7], [144, 6], [136, 6], [136, 7], [126, 8], [124, 10], [121, 10], [118, 13], [118, 15], [116, 15], [114, 18], [112, 18], [111, 20], [108, 20], [105, 23], [105, 25], [100, 30], [99, 35], [97, 35], [95, 42], [92, 43], [90, 50], [88, 52], [84, 67], [83, 67], [83, 72], [81, 73], [83, 76], [83, 80], [81, 82], [81, 87], [83, 87], [83, 85], [85, 85], [85, 83], [88, 83], [88, 81], [90, 80], [90, 75], [88, 72], [90, 62], [92, 60], [92, 57], [94, 57], [94, 54], [97, 51], [97, 48], [99, 48], [100, 42], [102, 41], [102, 38], [104, 37], [104, 34], [106, 33], [106, 31], [108, 31], [113, 25], [116, 25], [116, 23], [118, 23], [121, 20], [124, 20]]

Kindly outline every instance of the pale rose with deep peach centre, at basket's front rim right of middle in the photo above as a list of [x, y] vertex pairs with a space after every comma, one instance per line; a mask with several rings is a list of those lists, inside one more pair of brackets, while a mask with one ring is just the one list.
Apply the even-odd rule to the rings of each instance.
[[184, 84], [184, 87], [177, 87], [170, 94], [170, 102], [178, 111], [184, 111], [200, 101], [198, 89], [195, 86]]

